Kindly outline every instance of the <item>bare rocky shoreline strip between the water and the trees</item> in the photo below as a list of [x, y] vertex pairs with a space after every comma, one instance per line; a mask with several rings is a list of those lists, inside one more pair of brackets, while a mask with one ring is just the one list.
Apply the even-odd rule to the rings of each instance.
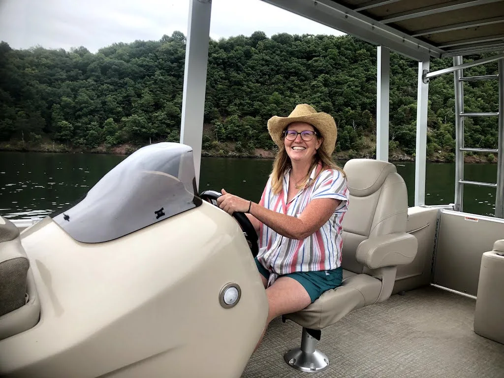
[[[66, 154], [101, 154], [101, 155], [124, 155], [128, 156], [140, 149], [143, 146], [135, 146], [132, 144], [123, 144], [119, 146], [107, 147], [105, 145], [90, 149], [86, 147], [67, 147], [62, 144], [41, 143], [39, 145], [31, 145], [22, 142], [0, 143], [0, 152], [40, 152], [40, 153], [66, 153]], [[202, 150], [202, 157], [220, 157], [220, 158], [248, 158], [248, 159], [274, 159], [276, 151], [265, 149], [254, 149], [252, 151], [229, 151], [228, 149], [211, 149]], [[350, 156], [351, 155], [351, 156]], [[335, 160], [350, 160], [354, 158], [374, 159], [375, 154], [370, 151], [340, 151], [333, 155]], [[415, 158], [402, 151], [394, 151], [389, 154], [390, 162], [414, 162]], [[440, 156], [427, 157], [429, 163], [453, 163], [453, 160], [447, 160]], [[489, 159], [488, 156], [471, 155], [464, 157], [465, 163], [479, 164], [494, 164], [497, 162], [495, 156]]]

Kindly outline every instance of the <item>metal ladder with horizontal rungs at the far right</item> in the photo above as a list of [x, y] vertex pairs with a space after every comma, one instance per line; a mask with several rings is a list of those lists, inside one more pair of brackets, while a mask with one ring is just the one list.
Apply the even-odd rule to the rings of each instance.
[[[454, 67], [462, 64], [462, 56], [454, 56]], [[464, 77], [463, 68], [454, 71], [455, 81], [455, 210], [463, 211], [464, 185], [495, 188], [495, 217], [504, 217], [504, 58], [498, 59], [498, 74]], [[499, 81], [499, 108], [496, 113], [466, 113], [464, 111], [464, 82], [477, 80]], [[498, 142], [496, 149], [464, 147], [464, 118], [498, 116]], [[488, 152], [497, 154], [497, 181], [495, 183], [464, 180], [464, 152]]]

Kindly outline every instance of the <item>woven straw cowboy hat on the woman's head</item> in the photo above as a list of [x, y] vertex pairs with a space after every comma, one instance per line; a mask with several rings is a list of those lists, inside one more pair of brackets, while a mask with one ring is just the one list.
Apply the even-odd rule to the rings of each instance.
[[324, 138], [320, 148], [331, 156], [336, 145], [338, 130], [336, 129], [336, 122], [330, 114], [318, 113], [308, 104], [299, 104], [288, 117], [274, 115], [268, 120], [268, 132], [278, 147], [284, 145], [282, 133], [287, 125], [292, 122], [306, 122], [317, 128]]

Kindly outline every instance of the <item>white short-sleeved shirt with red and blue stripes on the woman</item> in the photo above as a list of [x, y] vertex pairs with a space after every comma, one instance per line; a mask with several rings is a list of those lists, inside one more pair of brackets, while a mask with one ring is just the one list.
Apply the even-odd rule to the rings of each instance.
[[306, 186], [287, 201], [289, 170], [283, 177], [282, 191], [273, 194], [271, 177], [259, 203], [278, 213], [298, 217], [311, 200], [334, 198], [341, 200], [329, 220], [315, 233], [303, 240], [289, 239], [261, 223], [258, 261], [270, 271], [269, 285], [280, 275], [293, 272], [332, 270], [341, 266], [342, 221], [348, 209], [346, 178], [336, 169], [325, 169], [314, 177], [321, 166], [310, 174]]

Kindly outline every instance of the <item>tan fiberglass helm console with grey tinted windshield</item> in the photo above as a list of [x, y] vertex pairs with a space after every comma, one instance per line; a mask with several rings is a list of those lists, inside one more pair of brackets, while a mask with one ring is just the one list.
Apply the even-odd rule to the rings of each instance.
[[40, 318], [0, 340], [0, 375], [239, 376], [267, 298], [238, 223], [195, 189], [190, 147], [147, 146], [17, 236]]

